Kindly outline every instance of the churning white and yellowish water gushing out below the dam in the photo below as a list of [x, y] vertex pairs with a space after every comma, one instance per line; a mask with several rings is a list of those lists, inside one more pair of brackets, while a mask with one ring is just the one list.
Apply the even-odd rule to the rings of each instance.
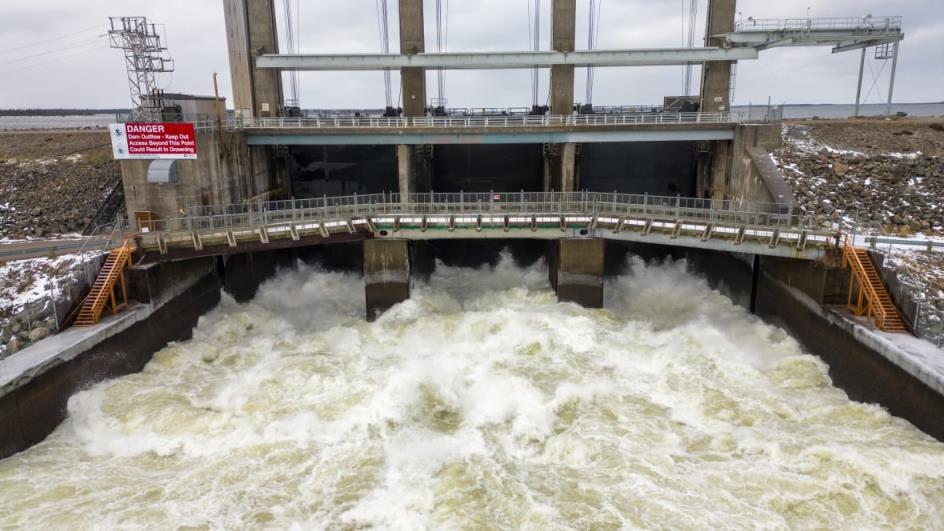
[[0, 528], [944, 527], [944, 445], [795, 340], [681, 263], [606, 290], [440, 267], [366, 323], [283, 272], [0, 461]]

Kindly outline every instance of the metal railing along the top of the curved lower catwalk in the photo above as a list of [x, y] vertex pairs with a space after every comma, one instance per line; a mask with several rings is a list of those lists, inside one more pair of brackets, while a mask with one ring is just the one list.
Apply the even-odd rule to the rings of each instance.
[[188, 215], [157, 220], [161, 232], [233, 229], [302, 221], [385, 215], [642, 216], [723, 225], [807, 228], [813, 219], [777, 203], [598, 192], [383, 193], [195, 206]]

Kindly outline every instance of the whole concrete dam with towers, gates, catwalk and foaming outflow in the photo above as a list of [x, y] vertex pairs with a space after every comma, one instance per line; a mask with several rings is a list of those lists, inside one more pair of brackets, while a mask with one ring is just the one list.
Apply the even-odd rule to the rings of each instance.
[[[448, 53], [399, 0], [399, 53], [304, 54], [275, 4], [223, 2], [231, 112], [145, 94], [110, 131], [191, 124], [195, 158], [121, 160], [76, 326], [0, 360], [0, 527], [944, 526], [940, 349], [794, 200], [780, 110], [730, 101], [769, 48], [897, 57], [900, 18], [711, 0], [703, 47], [576, 50], [553, 0], [551, 50]], [[688, 63], [682, 102], [574, 101], [576, 67]], [[427, 94], [533, 67], [545, 109]], [[384, 69], [402, 109], [283, 86]]]

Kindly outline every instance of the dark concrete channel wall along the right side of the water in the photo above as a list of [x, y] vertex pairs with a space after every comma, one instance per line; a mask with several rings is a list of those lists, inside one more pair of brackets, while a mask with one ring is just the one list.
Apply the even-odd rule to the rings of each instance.
[[735, 302], [779, 326], [806, 352], [829, 366], [833, 384], [849, 398], [877, 403], [938, 440], [944, 440], [944, 396], [890, 361], [899, 354], [887, 342], [832, 313], [823, 304], [845, 303], [848, 271], [820, 263], [762, 257], [751, 296], [751, 261], [727, 253], [683, 251], [694, 271]]

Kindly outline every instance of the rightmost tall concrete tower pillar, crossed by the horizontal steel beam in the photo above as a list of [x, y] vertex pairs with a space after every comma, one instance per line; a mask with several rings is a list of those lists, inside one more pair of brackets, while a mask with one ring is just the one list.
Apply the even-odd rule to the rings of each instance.
[[[715, 37], [734, 31], [736, 0], [709, 0], [705, 46], [720, 47], [723, 39]], [[702, 67], [702, 112], [729, 111], [731, 102], [731, 61], [708, 61]]]

